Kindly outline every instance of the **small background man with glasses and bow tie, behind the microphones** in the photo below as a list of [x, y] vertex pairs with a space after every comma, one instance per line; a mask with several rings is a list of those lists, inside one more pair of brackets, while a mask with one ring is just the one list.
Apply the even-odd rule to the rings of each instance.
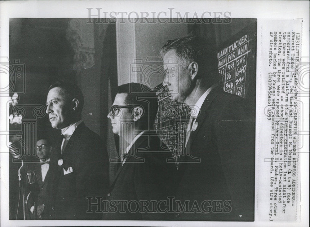
[[[46, 193], [49, 187], [50, 182], [50, 154], [51, 154], [52, 146], [51, 143], [47, 139], [40, 139], [37, 141], [37, 157], [40, 159], [40, 162], [36, 162], [33, 164], [33, 169], [35, 175], [38, 179], [38, 185], [40, 188], [40, 192], [38, 194], [38, 219], [45, 219], [44, 216], [44, 206], [46, 201]], [[33, 214], [34, 205], [33, 202], [29, 202], [28, 206], [30, 207], [30, 212]]]

